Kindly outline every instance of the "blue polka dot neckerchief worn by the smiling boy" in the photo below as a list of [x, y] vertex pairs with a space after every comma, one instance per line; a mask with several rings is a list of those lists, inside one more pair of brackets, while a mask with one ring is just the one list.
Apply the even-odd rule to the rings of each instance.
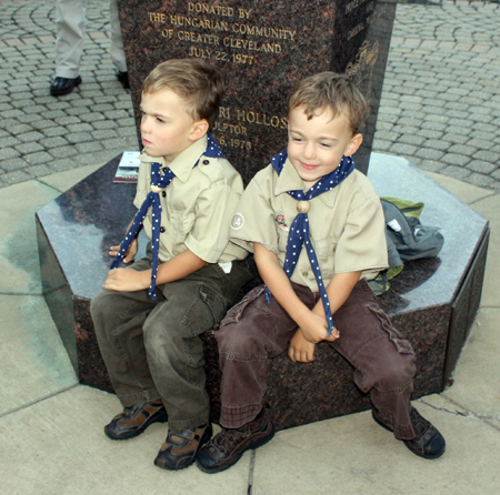
[[[271, 159], [272, 168], [276, 170], [278, 175], [281, 173], [287, 161], [288, 153], [283, 151], [276, 154]], [[290, 232], [288, 234], [287, 251], [284, 255], [283, 270], [290, 279], [296, 269], [297, 262], [299, 261], [300, 252], [302, 246], [306, 244], [306, 252], [309, 257], [309, 263], [316, 276], [316, 282], [318, 283], [318, 289], [323, 302], [324, 314], [328, 322], [328, 336], [330, 336], [333, 330], [333, 316], [331, 314], [330, 302], [328, 301], [327, 289], [321, 276], [321, 270], [318, 263], [318, 257], [316, 255], [314, 249], [312, 246], [309, 236], [309, 218], [308, 211], [310, 209], [309, 201], [313, 198], [319, 196], [323, 192], [331, 191], [336, 185], [340, 184], [352, 171], [354, 170], [354, 161], [351, 156], [342, 156], [340, 165], [333, 170], [333, 172], [328, 175], [322, 176], [311, 189], [307, 192], [301, 190], [287, 191], [297, 203], [298, 214], [294, 218]], [[266, 299], [268, 302], [271, 300], [271, 292], [266, 287]]]

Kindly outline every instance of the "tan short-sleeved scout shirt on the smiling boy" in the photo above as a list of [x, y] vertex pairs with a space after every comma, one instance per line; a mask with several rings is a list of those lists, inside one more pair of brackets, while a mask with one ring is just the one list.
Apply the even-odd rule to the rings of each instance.
[[[297, 215], [297, 200], [287, 191], [304, 190], [289, 160], [278, 175], [272, 165], [256, 174], [231, 221], [231, 241], [252, 251], [262, 244], [284, 263], [288, 233]], [[369, 180], [354, 170], [331, 191], [310, 201], [309, 231], [321, 276], [328, 285], [336, 273], [362, 270], [371, 280], [388, 266], [386, 222], [379, 196]], [[318, 292], [304, 248], [291, 281]]]

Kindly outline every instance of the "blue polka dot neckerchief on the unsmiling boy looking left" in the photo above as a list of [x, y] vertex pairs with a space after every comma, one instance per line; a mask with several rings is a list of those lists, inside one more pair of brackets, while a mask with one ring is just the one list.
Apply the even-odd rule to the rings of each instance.
[[[208, 158], [226, 158], [222, 150], [219, 148], [219, 144], [213, 139], [211, 134], [207, 134], [208, 144], [207, 149], [202, 153], [202, 155], [194, 163], [193, 169], [200, 162], [202, 156]], [[160, 202], [160, 192], [168, 188], [172, 179], [174, 178], [174, 173], [171, 169], [161, 170], [160, 163], [151, 163], [151, 191], [146, 196], [144, 202], [142, 203], [139, 211], [136, 213], [133, 218], [132, 225], [127, 233], [124, 240], [120, 244], [120, 250], [116, 255], [113, 262], [111, 263], [110, 269], [118, 269], [120, 263], [123, 261], [123, 257], [130, 248], [130, 244], [136, 239], [139, 230], [142, 225], [142, 222], [146, 219], [146, 215], [150, 209], [152, 208], [152, 218], [151, 218], [151, 285], [149, 286], [149, 296], [151, 300], [156, 301], [157, 294], [154, 293], [154, 287], [157, 285], [157, 273], [158, 273], [158, 253], [160, 251], [160, 230], [161, 230], [161, 202]]]

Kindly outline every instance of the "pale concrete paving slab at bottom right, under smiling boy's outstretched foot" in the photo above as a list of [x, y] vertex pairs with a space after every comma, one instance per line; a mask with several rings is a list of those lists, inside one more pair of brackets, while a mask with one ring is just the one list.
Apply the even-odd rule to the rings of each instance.
[[448, 438], [436, 461], [414, 456], [370, 413], [277, 434], [257, 451], [253, 495], [484, 495], [498, 486], [500, 431], [476, 417], [414, 405]]

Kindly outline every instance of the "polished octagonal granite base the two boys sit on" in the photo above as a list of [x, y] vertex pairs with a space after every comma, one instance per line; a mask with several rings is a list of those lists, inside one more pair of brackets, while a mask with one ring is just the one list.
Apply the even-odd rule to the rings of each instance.
[[[112, 391], [96, 342], [90, 299], [134, 213], [134, 185], [113, 184], [119, 156], [37, 213], [43, 293], [80, 383]], [[380, 297], [412, 343], [418, 375], [413, 397], [448, 384], [476, 316], [488, 249], [488, 221], [403, 159], [372, 153], [368, 176], [380, 195], [422, 201], [423, 224], [438, 225], [437, 259], [408, 263]], [[144, 242], [142, 242], [142, 245]], [[212, 421], [219, 411], [220, 372], [213, 332], [203, 336]], [[352, 367], [327, 344], [317, 358], [294, 364], [283, 353], [269, 363], [267, 402], [279, 430], [370, 407], [352, 382]]]

